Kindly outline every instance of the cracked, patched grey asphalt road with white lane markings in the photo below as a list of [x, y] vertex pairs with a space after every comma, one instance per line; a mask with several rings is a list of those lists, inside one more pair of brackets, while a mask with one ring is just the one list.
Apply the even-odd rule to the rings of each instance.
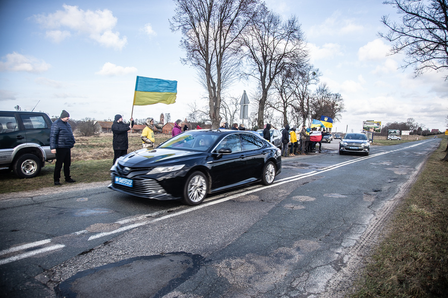
[[0, 197], [0, 292], [8, 297], [340, 296], [437, 139], [368, 157], [283, 159], [270, 186], [197, 207], [106, 183]]

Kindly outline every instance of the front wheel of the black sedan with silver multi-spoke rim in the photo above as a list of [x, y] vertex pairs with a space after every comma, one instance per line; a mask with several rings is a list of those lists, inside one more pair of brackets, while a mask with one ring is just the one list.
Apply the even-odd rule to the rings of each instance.
[[195, 206], [202, 203], [209, 191], [207, 176], [199, 171], [191, 173], [184, 186], [184, 202]]

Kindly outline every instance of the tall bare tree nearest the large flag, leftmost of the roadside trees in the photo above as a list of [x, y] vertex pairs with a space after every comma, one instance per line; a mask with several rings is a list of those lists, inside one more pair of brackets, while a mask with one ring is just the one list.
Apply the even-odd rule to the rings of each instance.
[[173, 31], [183, 34], [182, 60], [198, 70], [209, 93], [212, 127], [221, 120], [221, 92], [236, 78], [239, 59], [235, 40], [247, 26], [258, 0], [175, 0], [176, 14], [170, 21]]

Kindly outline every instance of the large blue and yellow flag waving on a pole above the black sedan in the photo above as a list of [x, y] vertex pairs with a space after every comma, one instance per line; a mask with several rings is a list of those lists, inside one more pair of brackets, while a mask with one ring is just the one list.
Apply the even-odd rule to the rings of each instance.
[[153, 79], [137, 76], [134, 106], [153, 104], [171, 105], [176, 102], [177, 81]]

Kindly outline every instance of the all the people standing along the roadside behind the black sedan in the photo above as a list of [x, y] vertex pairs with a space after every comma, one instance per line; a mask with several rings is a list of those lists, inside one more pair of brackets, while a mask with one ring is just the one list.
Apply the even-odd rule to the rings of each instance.
[[[64, 171], [65, 182], [73, 183], [76, 182], [70, 176], [70, 166], [71, 166], [71, 148], [73, 148], [75, 139], [73, 136], [73, 131], [71, 129], [68, 120], [70, 115], [67, 111], [63, 110], [61, 116], [56, 120], [51, 126], [50, 133], [50, 149], [51, 152], [56, 154], [56, 164], [54, 170], [54, 184], [61, 185], [61, 170]], [[182, 128], [182, 125], [183, 128]], [[127, 124], [123, 122], [123, 117], [121, 115], [115, 115], [114, 121], [112, 123], [112, 147], [113, 147], [113, 164], [115, 161], [121, 157], [128, 154], [128, 131], [134, 126], [134, 119], [131, 117], [130, 123]], [[267, 141], [271, 141], [270, 129], [271, 124], [266, 124], [263, 129], [263, 138]], [[188, 130], [188, 126], [180, 119], [176, 120], [174, 127], [171, 131], [172, 136], [176, 136], [179, 133]], [[197, 125], [196, 129], [202, 129]], [[221, 122], [219, 129], [229, 129], [226, 121]], [[233, 123], [230, 129], [233, 130], [246, 130], [244, 124]], [[142, 148], [154, 148], [155, 138], [154, 138], [154, 119], [146, 118], [145, 128], [142, 131]], [[281, 156], [295, 156], [300, 154], [306, 154], [316, 151], [316, 145], [319, 144], [319, 152], [321, 152], [321, 139], [325, 134], [330, 134], [330, 132], [325, 131], [325, 129], [306, 128], [303, 125], [300, 129], [295, 126], [290, 130], [290, 126], [286, 125], [281, 132]], [[290, 147], [288, 144], [291, 143]], [[289, 147], [289, 153], [288, 153]]]

